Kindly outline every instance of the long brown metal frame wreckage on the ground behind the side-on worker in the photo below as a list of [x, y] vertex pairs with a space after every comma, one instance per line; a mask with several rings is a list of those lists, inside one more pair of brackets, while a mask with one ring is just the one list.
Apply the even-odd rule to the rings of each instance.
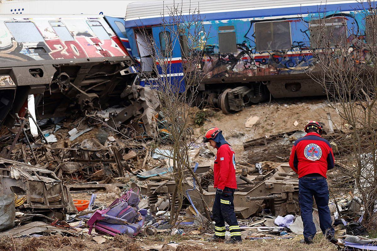
[[[198, 174], [198, 181], [188, 178], [184, 185], [185, 200], [184, 206], [192, 207], [194, 216], [203, 213], [201, 199], [196, 182], [203, 187], [205, 204], [209, 208], [213, 206], [216, 189], [210, 185], [212, 173], [211, 168], [202, 168]], [[212, 180], [213, 182], [213, 180]], [[150, 212], [155, 214], [166, 209], [164, 201], [170, 201], [174, 192], [174, 182], [148, 183], [141, 186], [141, 192], [148, 195]], [[288, 213], [298, 215], [300, 213], [298, 203], [298, 176], [287, 164], [282, 164], [276, 168], [265, 168], [259, 173], [257, 170], [243, 169], [242, 174], [237, 176], [237, 186], [239, 191], [234, 193], [234, 208], [236, 216], [246, 219], [262, 210], [269, 209], [273, 215], [286, 215]], [[171, 202], [170, 206], [178, 201]]]

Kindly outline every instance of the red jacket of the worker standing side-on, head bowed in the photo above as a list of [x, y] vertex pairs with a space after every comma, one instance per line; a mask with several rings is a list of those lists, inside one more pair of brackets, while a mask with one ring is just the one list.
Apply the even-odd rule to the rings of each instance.
[[221, 145], [215, 156], [213, 165], [213, 186], [219, 189], [224, 187], [237, 189], [236, 158], [232, 147], [228, 144]]

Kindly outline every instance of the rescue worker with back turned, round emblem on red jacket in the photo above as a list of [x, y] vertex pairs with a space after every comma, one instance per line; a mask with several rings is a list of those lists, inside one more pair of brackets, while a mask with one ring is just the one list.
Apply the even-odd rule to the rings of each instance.
[[313, 223], [313, 196], [316, 200], [320, 228], [323, 235], [331, 242], [334, 228], [328, 207], [329, 191], [326, 172], [334, 168], [334, 154], [331, 145], [323, 139], [322, 127], [317, 121], [310, 121], [305, 126], [307, 133], [293, 144], [289, 165], [299, 175], [299, 204], [303, 222], [304, 239], [300, 243], [313, 243], [316, 226]]

